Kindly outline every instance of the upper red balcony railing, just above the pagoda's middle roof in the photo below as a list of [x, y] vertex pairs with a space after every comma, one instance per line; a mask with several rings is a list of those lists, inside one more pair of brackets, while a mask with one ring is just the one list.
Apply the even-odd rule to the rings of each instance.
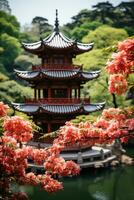
[[48, 64], [48, 65], [37, 65], [37, 66], [32, 66], [32, 70], [41, 70], [41, 69], [47, 69], [47, 70], [73, 70], [73, 69], [81, 69], [82, 66], [77, 66], [77, 65], [68, 65], [68, 64], [63, 64], [63, 65], [58, 65], [58, 64]]

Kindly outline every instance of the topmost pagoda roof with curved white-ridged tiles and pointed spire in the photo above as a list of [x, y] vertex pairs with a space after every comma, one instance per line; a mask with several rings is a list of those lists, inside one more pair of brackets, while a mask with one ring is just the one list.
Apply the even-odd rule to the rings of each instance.
[[75, 54], [80, 54], [87, 52], [93, 48], [93, 43], [84, 44], [77, 42], [66, 37], [59, 30], [58, 18], [56, 15], [55, 28], [54, 31], [45, 39], [40, 39], [40, 41], [35, 43], [22, 43], [23, 48], [34, 54], [40, 54], [45, 51], [45, 49], [71, 49]]

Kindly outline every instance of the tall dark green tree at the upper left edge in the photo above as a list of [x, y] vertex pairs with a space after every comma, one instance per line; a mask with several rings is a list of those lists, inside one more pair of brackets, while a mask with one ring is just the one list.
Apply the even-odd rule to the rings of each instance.
[[0, 11], [0, 27], [0, 63], [8, 73], [12, 71], [14, 60], [21, 51], [18, 40], [20, 25], [15, 16]]

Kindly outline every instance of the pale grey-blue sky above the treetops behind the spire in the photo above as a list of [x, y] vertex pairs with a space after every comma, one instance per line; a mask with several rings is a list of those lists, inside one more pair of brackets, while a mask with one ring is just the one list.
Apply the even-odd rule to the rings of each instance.
[[[54, 24], [55, 10], [58, 9], [60, 25], [71, 22], [71, 17], [82, 9], [90, 9], [92, 5], [107, 0], [8, 0], [12, 14], [21, 25], [30, 24], [35, 16], [48, 19]], [[127, 0], [125, 0], [127, 1]], [[118, 5], [121, 0], [109, 0], [113, 5]]]

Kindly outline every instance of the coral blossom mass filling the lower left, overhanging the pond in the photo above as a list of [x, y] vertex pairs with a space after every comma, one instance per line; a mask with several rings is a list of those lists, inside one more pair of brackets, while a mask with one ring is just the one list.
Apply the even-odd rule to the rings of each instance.
[[[19, 116], [7, 116], [8, 106], [0, 103], [0, 117], [3, 119], [3, 135], [0, 137], [0, 192], [7, 192], [10, 182], [41, 185], [47, 192], [55, 192], [63, 188], [62, 183], [53, 178], [56, 176], [77, 175], [80, 168], [72, 161], [65, 161], [59, 156], [64, 148], [64, 142], [54, 143], [49, 148], [37, 149], [26, 146], [33, 137], [32, 125]], [[20, 145], [21, 144], [21, 145]], [[42, 165], [45, 174], [37, 175], [33, 172], [27, 173], [28, 160], [36, 165]], [[26, 195], [10, 195], [4, 199], [27, 199]]]

